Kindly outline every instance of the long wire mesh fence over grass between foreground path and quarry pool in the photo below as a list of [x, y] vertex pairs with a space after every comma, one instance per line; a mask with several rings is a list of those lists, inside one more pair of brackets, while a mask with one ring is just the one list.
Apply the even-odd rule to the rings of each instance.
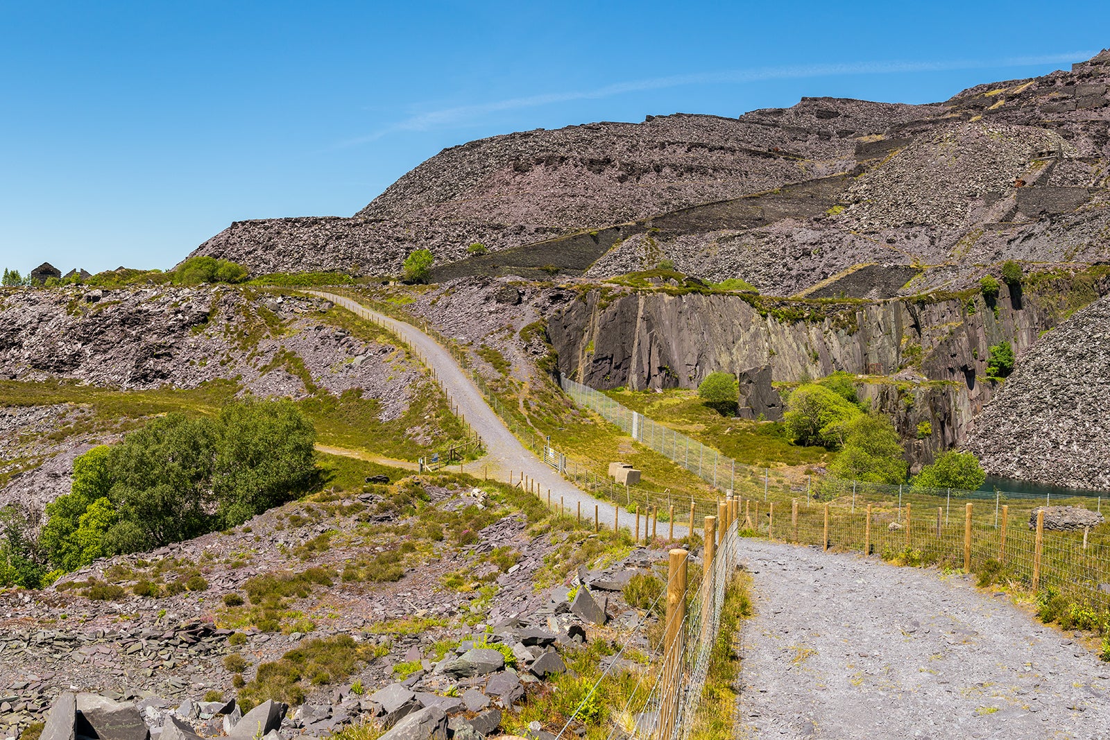
[[[1032, 590], [1052, 589], [1080, 605], [1110, 609], [1110, 543], [1090, 531], [1041, 530], [1042, 506], [1101, 514], [1101, 496], [962, 490], [886, 485], [758, 468], [720, 455], [569, 378], [561, 385], [644, 444], [744, 500], [744, 523], [758, 534], [837, 550], [867, 551], [908, 564], [937, 564]], [[706, 510], [713, 501], [696, 503]]]

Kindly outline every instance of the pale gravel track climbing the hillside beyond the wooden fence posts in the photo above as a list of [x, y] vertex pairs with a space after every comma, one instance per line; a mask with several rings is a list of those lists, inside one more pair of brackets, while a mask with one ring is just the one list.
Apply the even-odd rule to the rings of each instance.
[[[458, 414], [478, 433], [482, 442], [486, 446], [486, 456], [477, 464], [472, 464], [467, 469], [472, 474], [481, 474], [483, 466], [488, 465], [492, 474], [500, 474], [507, 479], [512, 473], [514, 479], [523, 472], [531, 476], [546, 496], [549, 488], [552, 501], [557, 501], [563, 497], [564, 505], [568, 511], [574, 513], [577, 504], [582, 504], [582, 515], [584, 518], [594, 516], [594, 505], [601, 507], [599, 517], [606, 526], [613, 526], [613, 504], [594, 498], [589, 494], [572, 485], [563, 476], [545, 465], [538, 457], [532, 454], [521, 442], [513, 436], [513, 433], [502, 423], [501, 417], [494, 414], [485, 403], [485, 397], [471, 379], [471, 376], [455, 362], [451, 353], [440, 346], [431, 336], [420, 331], [411, 324], [400, 322], [395, 318], [371, 311], [362, 304], [351, 298], [324, 291], [305, 291], [322, 298], [327, 298], [336, 305], [343, 306], [347, 311], [384, 324], [386, 328], [397, 334], [408, 346], [424, 359], [424, 363], [435, 371], [436, 381], [443, 386], [444, 393], [458, 407]], [[624, 509], [619, 509], [619, 526], [632, 531], [635, 527], [636, 517]], [[686, 527], [675, 523], [675, 536], [685, 537]]]

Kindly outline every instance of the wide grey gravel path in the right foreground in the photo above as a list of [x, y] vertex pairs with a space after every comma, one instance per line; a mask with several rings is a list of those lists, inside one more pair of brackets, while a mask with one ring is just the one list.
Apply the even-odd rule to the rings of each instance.
[[739, 736], [1110, 737], [1110, 663], [963, 577], [740, 540]]

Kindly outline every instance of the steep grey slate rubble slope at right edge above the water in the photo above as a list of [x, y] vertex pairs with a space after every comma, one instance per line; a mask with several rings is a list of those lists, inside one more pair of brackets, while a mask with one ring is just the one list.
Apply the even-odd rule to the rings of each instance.
[[1045, 334], [975, 419], [990, 475], [1110, 490], [1110, 297]]

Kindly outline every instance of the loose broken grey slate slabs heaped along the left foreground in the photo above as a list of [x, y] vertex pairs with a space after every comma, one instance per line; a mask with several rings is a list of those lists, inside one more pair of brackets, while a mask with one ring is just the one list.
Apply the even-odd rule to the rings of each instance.
[[[461, 640], [457, 648], [448, 650], [438, 661], [430, 659], [432, 639], [425, 636], [412, 641], [400, 655], [394, 651], [374, 661], [376, 665], [369, 666], [360, 678], [352, 677], [354, 680], [339, 687], [320, 687], [295, 707], [268, 700], [244, 713], [234, 699], [204, 701], [193, 695], [202, 683], [183, 686], [181, 681], [167, 685], [168, 689], [174, 689], [176, 698], [149, 690], [57, 693], [53, 676], [38, 676], [34, 683], [20, 682], [11, 688], [12, 696], [3, 697], [0, 737], [4, 724], [8, 734], [17, 737], [33, 720], [46, 722], [42, 740], [82, 737], [196, 740], [222, 736], [235, 740], [283, 740], [326, 737], [363, 722], [385, 729], [382, 737], [386, 740], [503, 737], [498, 730], [505, 713], [525, 700], [526, 695], [541, 691], [546, 679], [567, 671], [565, 650], [582, 647], [587, 640], [632, 635], [633, 647], [653, 660], [659, 658], [648, 645], [645, 630], [637, 629], [654, 617], [629, 607], [620, 592], [637, 574], [659, 576], [663, 567], [659, 564], [665, 556], [663, 550], [638, 549], [604, 570], [579, 568], [569, 580], [569, 588], [556, 586], [545, 590], [531, 614], [503, 619], [492, 631], [482, 631], [480, 625], [473, 636]], [[531, 590], [526, 581], [516, 588]], [[606, 626], [604, 635], [596, 631], [602, 626]], [[454, 632], [465, 636], [465, 630]], [[150, 656], [155, 661], [169, 653], [167, 662], [181, 667], [190, 656], [226, 652], [230, 633], [208, 622], [193, 622], [157, 638], [149, 633], [139, 636], [121, 647], [124, 652]], [[59, 660], [94, 662], [104, 649], [105, 636], [63, 638], [60, 633], [42, 632], [20, 638], [8, 641], [4, 651], [18, 653], [26, 640], [46, 640], [54, 646]], [[356, 639], [369, 638], [356, 636]], [[379, 680], [374, 685], [364, 683], [361, 678], [390, 676], [394, 661], [400, 660], [418, 662], [421, 667], [402, 681]], [[625, 659], [616, 668], [644, 669]], [[532, 724], [527, 737], [535, 740], [554, 737], [537, 722]]]

